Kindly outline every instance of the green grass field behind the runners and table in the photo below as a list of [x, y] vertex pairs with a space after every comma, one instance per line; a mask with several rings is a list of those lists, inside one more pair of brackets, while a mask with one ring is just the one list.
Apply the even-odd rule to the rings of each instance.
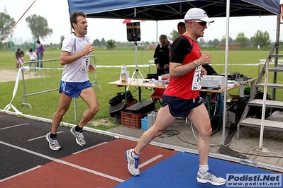
[[[210, 52], [212, 58], [212, 66], [219, 73], [225, 73], [225, 51], [221, 50], [213, 50], [209, 51], [209, 49], [202, 49], [202, 52]], [[244, 66], [237, 64], [257, 64], [259, 59], [266, 59], [269, 51], [230, 51], [228, 54], [228, 73], [238, 72], [245, 76], [257, 78], [258, 76], [258, 67], [257, 66]], [[154, 51], [145, 50], [142, 51], [138, 49], [138, 64], [148, 64], [148, 60], [151, 60], [153, 57]], [[121, 65], [123, 63], [128, 65], [135, 65], [135, 50], [134, 49], [123, 49], [123, 50], [107, 50], [107, 49], [95, 49], [94, 52], [91, 53], [94, 57], [96, 57], [97, 65]], [[60, 57], [60, 49], [45, 49], [45, 54], [43, 59], [58, 59]], [[28, 57], [25, 59], [28, 61]], [[16, 58], [14, 56], [14, 52], [0, 51], [0, 63], [1, 70], [11, 70], [16, 71], [15, 68]], [[213, 65], [215, 64], [215, 65]], [[216, 65], [220, 64], [220, 65]], [[60, 65], [58, 65], [60, 66]], [[260, 70], [262, 66], [260, 66]], [[133, 71], [135, 68], [128, 68], [130, 74], [133, 75]], [[148, 68], [139, 68], [140, 72], [144, 77], [149, 72]], [[154, 73], [155, 66], [151, 66], [151, 73]], [[109, 117], [109, 99], [116, 95], [118, 92], [123, 91], [123, 87], [118, 88], [113, 85], [109, 85], [108, 83], [111, 81], [118, 80], [120, 75], [120, 69], [118, 68], [98, 68], [96, 69], [96, 77], [99, 86], [102, 88], [99, 90], [98, 87], [94, 87], [96, 91], [96, 95], [99, 99], [100, 110], [98, 114], [94, 117], [94, 121], [96, 119], [105, 119]], [[16, 77], [15, 77], [16, 80]], [[280, 80], [280, 79], [278, 79]], [[282, 79], [281, 79], [282, 81]], [[59, 86], [59, 83], [57, 83]], [[12, 98], [13, 88], [15, 85], [15, 81], [9, 81], [5, 83], [0, 83], [0, 109], [4, 109], [6, 105], [9, 104]], [[133, 93], [137, 88], [130, 88]], [[142, 97], [143, 99], [150, 100], [150, 95], [152, 94], [152, 90], [147, 90], [143, 88]], [[238, 90], [234, 90], [233, 94], [238, 94]], [[134, 97], [138, 99], [138, 90], [133, 93]], [[280, 94], [281, 95], [281, 94]], [[282, 97], [282, 95], [280, 96]], [[18, 83], [18, 91], [16, 93], [16, 97], [14, 98], [12, 104], [23, 114], [30, 114], [33, 116], [43, 117], [47, 119], [52, 119], [52, 114], [57, 110], [57, 106], [59, 103], [59, 93], [57, 91], [52, 91], [49, 93], [43, 93], [39, 95], [32, 95], [27, 98], [28, 103], [32, 105], [33, 108], [28, 107], [28, 105], [21, 104], [24, 102], [23, 100], [23, 83], [20, 80]], [[156, 107], [159, 108], [159, 102], [156, 103]], [[82, 113], [87, 109], [87, 105], [81, 98], [77, 98], [77, 121], [74, 119], [74, 103], [70, 105], [70, 109], [63, 118], [63, 122], [68, 122], [72, 124], [77, 124], [79, 119], [82, 117]], [[107, 119], [113, 127], [118, 126], [112, 118]], [[88, 124], [90, 126], [90, 124]], [[110, 127], [111, 128], [111, 127]], [[105, 127], [101, 124], [96, 129], [109, 129], [109, 127]]]

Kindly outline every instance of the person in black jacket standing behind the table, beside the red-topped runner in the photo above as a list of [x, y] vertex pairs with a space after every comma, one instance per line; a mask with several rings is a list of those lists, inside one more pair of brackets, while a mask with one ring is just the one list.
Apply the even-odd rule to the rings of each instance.
[[156, 64], [157, 74], [169, 74], [169, 50], [171, 43], [167, 40], [166, 35], [160, 35], [160, 45], [155, 48], [153, 59]]

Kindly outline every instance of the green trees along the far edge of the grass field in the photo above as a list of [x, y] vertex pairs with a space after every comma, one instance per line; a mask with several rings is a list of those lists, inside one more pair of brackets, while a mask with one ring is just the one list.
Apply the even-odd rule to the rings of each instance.
[[[9, 46], [13, 46], [13, 42], [9, 42], [8, 45], [5, 42], [2, 42], [6, 38], [13, 37], [13, 25], [15, 24], [15, 20], [9, 16], [7, 13], [0, 13], [0, 49], [9, 49]], [[44, 40], [48, 36], [52, 34], [52, 29], [48, 28], [48, 20], [43, 18], [42, 16], [37, 16], [35, 14], [28, 16], [26, 18], [26, 23], [28, 25], [28, 28], [30, 28], [30, 32], [34, 39], [36, 40]], [[168, 36], [169, 40], [173, 41], [175, 37], [177, 37], [179, 34], [177, 30], [172, 30], [172, 33]], [[45, 44], [46, 47], [61, 47], [62, 41], [64, 40], [64, 36], [60, 37], [60, 44]], [[198, 40], [199, 45], [201, 47], [225, 47], [226, 44], [226, 36], [223, 36], [221, 40], [214, 39], [205, 41], [203, 38], [200, 38]], [[30, 44], [32, 42], [23, 42], [23, 47], [28, 49], [30, 46], [33, 46], [33, 44]], [[101, 47], [101, 48], [107, 48], [107, 49], [116, 49], [116, 47], [133, 47], [133, 43], [131, 42], [116, 42], [115, 40], [104, 40], [102, 38], [101, 40], [94, 40], [92, 42], [92, 45], [94, 47]], [[148, 47], [155, 47], [156, 42], [141, 42], [139, 46], [145, 47], [147, 49]], [[245, 37], [245, 33], [238, 33], [237, 37], [235, 39], [232, 39], [229, 37], [229, 47], [236, 47], [237, 49], [242, 48], [248, 48], [248, 47], [270, 47], [271, 40], [270, 40], [270, 34], [267, 33], [267, 31], [262, 32], [261, 30], [257, 30], [257, 33], [253, 35], [253, 37]]]

